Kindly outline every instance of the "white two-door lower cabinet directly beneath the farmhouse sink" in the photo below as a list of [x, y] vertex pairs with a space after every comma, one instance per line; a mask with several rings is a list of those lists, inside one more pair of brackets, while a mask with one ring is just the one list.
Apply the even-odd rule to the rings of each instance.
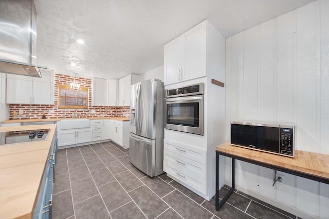
[[92, 129], [59, 131], [58, 147], [92, 142], [92, 136]]

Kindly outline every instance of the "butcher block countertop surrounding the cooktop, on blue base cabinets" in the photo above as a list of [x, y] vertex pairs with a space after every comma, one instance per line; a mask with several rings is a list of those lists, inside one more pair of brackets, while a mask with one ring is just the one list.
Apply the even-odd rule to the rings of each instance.
[[50, 129], [47, 140], [0, 146], [0, 218], [32, 218], [56, 125], [0, 127], [36, 129]]

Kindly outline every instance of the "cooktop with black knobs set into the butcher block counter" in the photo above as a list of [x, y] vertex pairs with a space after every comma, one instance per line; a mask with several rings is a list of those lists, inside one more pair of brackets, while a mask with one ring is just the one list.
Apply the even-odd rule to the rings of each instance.
[[0, 144], [8, 145], [47, 140], [49, 129], [1, 132]]

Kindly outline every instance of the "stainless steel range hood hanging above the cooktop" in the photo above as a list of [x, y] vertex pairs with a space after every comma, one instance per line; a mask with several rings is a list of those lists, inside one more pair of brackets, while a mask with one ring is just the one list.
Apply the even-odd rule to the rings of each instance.
[[[36, 66], [36, 11], [33, 0], [0, 0], [0, 73], [41, 77]], [[32, 64], [33, 63], [33, 64]]]

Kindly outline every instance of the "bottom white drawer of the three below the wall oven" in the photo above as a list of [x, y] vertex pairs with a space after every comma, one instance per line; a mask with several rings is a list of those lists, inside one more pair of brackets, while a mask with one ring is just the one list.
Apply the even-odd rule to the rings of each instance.
[[206, 194], [206, 180], [200, 177], [191, 176], [186, 173], [182, 173], [176, 166], [171, 166], [167, 161], [163, 161], [163, 171], [167, 174], [172, 175], [178, 181], [192, 187], [193, 189]]

